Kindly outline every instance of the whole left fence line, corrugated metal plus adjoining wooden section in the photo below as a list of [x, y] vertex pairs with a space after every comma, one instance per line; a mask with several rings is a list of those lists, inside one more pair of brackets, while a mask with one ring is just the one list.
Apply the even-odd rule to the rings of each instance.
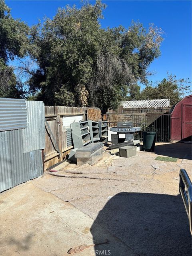
[[0, 98], [0, 192], [64, 160], [73, 148], [71, 122], [87, 118], [100, 120], [100, 109]]

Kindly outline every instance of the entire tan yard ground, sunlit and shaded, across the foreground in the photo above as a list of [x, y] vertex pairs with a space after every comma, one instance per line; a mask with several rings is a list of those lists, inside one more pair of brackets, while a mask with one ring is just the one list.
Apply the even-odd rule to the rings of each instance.
[[[177, 162], [156, 161], [172, 156]], [[0, 195], [0, 255], [190, 256], [180, 168], [191, 175], [191, 144], [156, 144], [120, 158], [106, 150], [94, 166], [67, 163]], [[62, 177], [65, 176], [65, 177]]]

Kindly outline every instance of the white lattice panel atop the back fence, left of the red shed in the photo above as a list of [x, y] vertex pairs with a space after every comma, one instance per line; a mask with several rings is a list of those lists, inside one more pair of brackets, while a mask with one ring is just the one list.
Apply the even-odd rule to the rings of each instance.
[[123, 101], [123, 108], [160, 108], [168, 107], [170, 105], [170, 99], [161, 100], [129, 100]]

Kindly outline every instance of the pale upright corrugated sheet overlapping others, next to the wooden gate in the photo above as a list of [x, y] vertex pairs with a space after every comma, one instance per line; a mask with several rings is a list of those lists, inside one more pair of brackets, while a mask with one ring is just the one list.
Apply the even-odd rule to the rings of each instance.
[[22, 130], [23, 152], [45, 147], [45, 107], [42, 101], [26, 101], [27, 128]]

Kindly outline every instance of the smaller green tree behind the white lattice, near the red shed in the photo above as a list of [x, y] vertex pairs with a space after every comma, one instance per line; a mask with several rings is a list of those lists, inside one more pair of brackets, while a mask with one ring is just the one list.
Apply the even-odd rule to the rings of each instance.
[[188, 92], [190, 92], [190, 84], [188, 79], [177, 79], [172, 74], [167, 74], [161, 82], [157, 82], [156, 86], [146, 86], [140, 92], [140, 99], [170, 99], [170, 105], [176, 104]]

